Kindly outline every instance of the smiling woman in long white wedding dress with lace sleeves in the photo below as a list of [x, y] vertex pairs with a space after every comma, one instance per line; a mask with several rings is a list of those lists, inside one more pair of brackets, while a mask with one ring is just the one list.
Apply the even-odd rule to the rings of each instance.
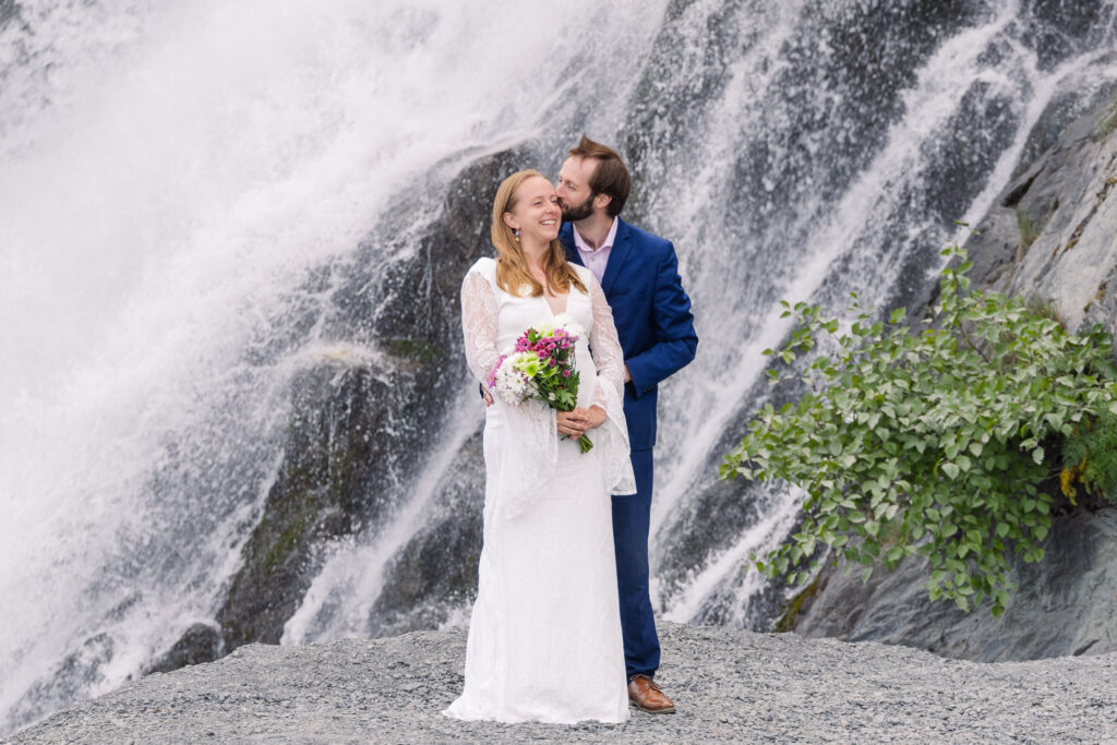
[[[474, 264], [461, 288], [466, 361], [480, 381], [528, 327], [575, 323], [586, 333], [575, 351], [577, 408], [495, 397], [486, 410], [466, 682], [443, 711], [460, 719], [629, 718], [610, 506], [610, 494], [636, 491], [624, 364], [601, 287], [565, 259], [560, 216], [543, 174], [505, 179], [493, 206], [497, 259]], [[593, 449], [581, 453], [575, 441], [586, 432]]]

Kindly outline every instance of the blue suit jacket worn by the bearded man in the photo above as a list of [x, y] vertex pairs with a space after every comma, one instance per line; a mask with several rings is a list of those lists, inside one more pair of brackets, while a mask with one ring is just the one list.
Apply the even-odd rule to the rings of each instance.
[[[573, 230], [564, 223], [558, 239], [566, 258], [582, 264]], [[671, 241], [618, 219], [601, 288], [632, 375], [624, 385], [629, 443], [633, 450], [646, 450], [656, 445], [659, 382], [694, 360], [698, 347], [690, 298], [682, 289]]]

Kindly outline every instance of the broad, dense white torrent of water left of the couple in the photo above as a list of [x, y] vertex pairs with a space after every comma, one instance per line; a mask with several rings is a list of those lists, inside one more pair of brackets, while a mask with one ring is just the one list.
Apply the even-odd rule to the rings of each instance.
[[288, 309], [325, 300], [308, 273], [435, 164], [531, 136], [572, 86], [604, 85], [582, 65], [634, 75], [659, 12], [16, 7], [0, 30], [0, 732], [118, 686], [212, 618], [281, 458], [287, 383], [321, 346], [313, 325], [276, 343]]

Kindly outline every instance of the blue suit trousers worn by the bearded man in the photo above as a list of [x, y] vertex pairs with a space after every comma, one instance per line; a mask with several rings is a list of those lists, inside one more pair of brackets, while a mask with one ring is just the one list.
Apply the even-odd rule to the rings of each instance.
[[624, 667], [628, 677], [653, 676], [659, 668], [659, 637], [648, 588], [648, 531], [651, 524], [651, 450], [633, 450], [633, 495], [613, 497], [613, 550], [621, 601]]

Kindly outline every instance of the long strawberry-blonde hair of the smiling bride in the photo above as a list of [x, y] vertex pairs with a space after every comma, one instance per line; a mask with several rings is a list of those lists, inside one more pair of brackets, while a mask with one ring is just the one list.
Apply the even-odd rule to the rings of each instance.
[[[493, 247], [497, 252], [496, 284], [509, 295], [523, 296], [521, 289], [525, 285], [532, 288], [531, 296], [543, 295], [543, 285], [528, 270], [527, 259], [524, 258], [524, 250], [516, 239], [515, 231], [504, 221], [504, 213], [510, 212], [516, 207], [516, 190], [532, 176], [546, 179], [534, 169], [517, 171], [500, 183], [493, 201], [491, 235]], [[566, 251], [557, 239], [551, 241], [546, 254], [543, 255], [543, 273], [555, 293], [565, 292], [571, 285], [582, 293], [588, 292], [577, 273], [566, 261]]]

